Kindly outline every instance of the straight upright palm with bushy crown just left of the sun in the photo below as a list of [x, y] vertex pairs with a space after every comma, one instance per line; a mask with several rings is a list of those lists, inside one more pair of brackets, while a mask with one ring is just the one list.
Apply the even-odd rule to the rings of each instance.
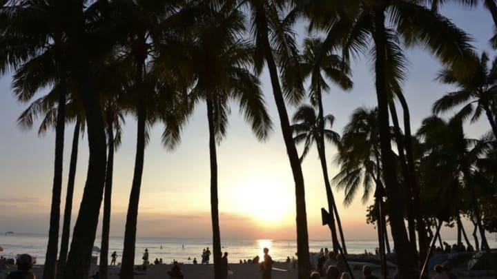
[[[213, 226], [214, 278], [222, 278], [221, 236], [218, 209], [216, 145], [226, 136], [229, 103], [238, 101], [245, 120], [259, 140], [271, 131], [260, 82], [247, 69], [252, 62], [251, 45], [241, 39], [244, 14], [229, 1], [220, 7], [204, 6], [203, 17], [193, 30], [186, 54], [195, 79], [191, 99], [207, 106], [211, 161], [211, 219]], [[206, 63], [208, 61], [208, 63]]]

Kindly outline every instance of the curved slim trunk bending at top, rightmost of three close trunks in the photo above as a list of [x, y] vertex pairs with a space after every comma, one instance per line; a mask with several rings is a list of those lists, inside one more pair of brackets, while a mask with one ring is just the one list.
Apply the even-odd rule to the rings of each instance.
[[409, 167], [409, 177], [411, 178], [411, 195], [412, 204], [414, 207], [414, 215], [416, 217], [416, 228], [418, 229], [418, 246], [420, 249], [419, 258], [426, 258], [429, 241], [427, 238], [427, 229], [425, 219], [422, 218], [421, 214], [421, 201], [420, 201], [420, 188], [418, 185], [418, 179], [416, 174], [416, 165], [414, 164], [414, 155], [412, 147], [412, 135], [411, 135], [411, 116], [409, 114], [409, 106], [402, 92], [396, 95], [400, 105], [402, 105], [402, 111], [404, 112], [404, 133], [405, 133], [405, 149], [407, 156], [407, 166]]

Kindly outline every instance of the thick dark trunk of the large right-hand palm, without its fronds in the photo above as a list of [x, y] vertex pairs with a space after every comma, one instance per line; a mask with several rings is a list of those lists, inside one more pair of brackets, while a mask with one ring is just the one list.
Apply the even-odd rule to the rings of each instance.
[[[394, 165], [393, 154], [390, 143], [389, 110], [387, 99], [387, 83], [385, 80], [386, 54], [384, 38], [384, 8], [377, 8], [375, 11], [375, 32], [373, 40], [376, 46], [375, 72], [376, 72], [376, 96], [378, 98], [378, 120], [380, 123], [380, 149], [383, 166], [383, 176], [387, 190], [387, 202], [389, 208], [400, 207], [401, 195], [396, 179], [396, 166]], [[390, 227], [395, 243], [398, 259], [398, 277], [412, 278], [413, 265], [407, 231], [402, 213], [398, 210], [390, 211]], [[402, 251], [399, 253], [399, 251]]]

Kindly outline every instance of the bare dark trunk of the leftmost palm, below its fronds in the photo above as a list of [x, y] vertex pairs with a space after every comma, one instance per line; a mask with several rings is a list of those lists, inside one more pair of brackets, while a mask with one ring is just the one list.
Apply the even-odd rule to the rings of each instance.
[[59, 221], [62, 190], [62, 169], [64, 161], [64, 131], [66, 126], [66, 73], [59, 68], [59, 104], [57, 106], [57, 126], [55, 128], [55, 163], [52, 185], [52, 206], [50, 207], [50, 229], [43, 279], [55, 279], [57, 270], [57, 249], [59, 249]]

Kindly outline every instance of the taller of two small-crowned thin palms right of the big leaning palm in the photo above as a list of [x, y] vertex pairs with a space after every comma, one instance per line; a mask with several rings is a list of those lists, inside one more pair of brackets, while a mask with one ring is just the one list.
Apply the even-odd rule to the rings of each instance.
[[[328, 168], [326, 160], [326, 152], [324, 147], [324, 116], [323, 116], [323, 105], [322, 105], [322, 92], [327, 92], [329, 90], [329, 85], [322, 76], [322, 72], [326, 74], [327, 79], [333, 81], [336, 85], [340, 86], [343, 90], [349, 90], [352, 87], [352, 81], [349, 79], [350, 68], [349, 65], [342, 62], [342, 58], [336, 54], [321, 54], [322, 49], [322, 39], [306, 39], [304, 40], [304, 53], [300, 56], [300, 69], [302, 70], [304, 77], [311, 76], [311, 85], [309, 88], [311, 102], [313, 105], [318, 107], [318, 116], [314, 118], [315, 121], [315, 141], [318, 147], [318, 153], [320, 155], [321, 167], [324, 176], [324, 186], [327, 192], [328, 209], [332, 213], [331, 216], [331, 234], [333, 238], [333, 250], [337, 251], [338, 240], [336, 237], [335, 229], [335, 216], [337, 220], [338, 229], [340, 231], [340, 238], [342, 239], [342, 247], [344, 253], [347, 254], [347, 247], [345, 246], [345, 240], [343, 235], [342, 223], [340, 222], [340, 216], [336, 208], [335, 198], [333, 197], [333, 192], [331, 191], [331, 185], [328, 178]], [[320, 60], [317, 60], [320, 59]], [[316, 66], [318, 65], [318, 66]], [[317, 70], [316, 70], [316, 67]], [[311, 112], [309, 110], [309, 112]], [[309, 115], [310, 116], [310, 115]], [[304, 119], [301, 119], [304, 120]], [[311, 120], [311, 118], [309, 118]], [[331, 119], [330, 119], [331, 120]], [[304, 149], [305, 150], [305, 149]], [[303, 156], [302, 156], [303, 158]], [[302, 161], [301, 158], [301, 161]]]

